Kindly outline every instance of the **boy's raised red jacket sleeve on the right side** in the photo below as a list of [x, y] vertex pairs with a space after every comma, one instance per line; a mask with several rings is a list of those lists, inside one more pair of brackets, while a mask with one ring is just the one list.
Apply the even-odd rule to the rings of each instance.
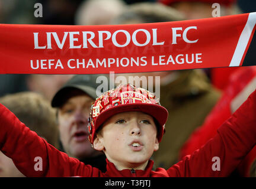
[[[193, 154], [169, 168], [181, 177], [227, 177], [256, 144], [256, 91], [217, 130], [217, 135]], [[220, 171], [212, 167], [220, 158]]]

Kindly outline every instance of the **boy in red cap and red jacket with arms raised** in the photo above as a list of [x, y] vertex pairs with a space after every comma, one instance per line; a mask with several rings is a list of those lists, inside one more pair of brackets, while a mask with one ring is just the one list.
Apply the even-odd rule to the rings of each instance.
[[127, 84], [103, 94], [91, 107], [89, 141], [104, 151], [106, 172], [57, 151], [2, 105], [0, 149], [28, 177], [225, 177], [256, 144], [255, 113], [256, 92], [206, 145], [168, 170], [153, 171], [149, 158], [161, 142], [168, 112], [152, 93]]

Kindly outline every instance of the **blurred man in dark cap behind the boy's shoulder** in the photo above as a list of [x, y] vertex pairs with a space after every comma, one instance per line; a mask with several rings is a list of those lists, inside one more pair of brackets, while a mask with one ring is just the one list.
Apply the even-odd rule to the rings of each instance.
[[88, 140], [88, 118], [97, 98], [98, 75], [76, 75], [66, 82], [52, 99], [57, 108], [60, 141], [69, 157], [105, 171], [105, 155], [91, 147]]

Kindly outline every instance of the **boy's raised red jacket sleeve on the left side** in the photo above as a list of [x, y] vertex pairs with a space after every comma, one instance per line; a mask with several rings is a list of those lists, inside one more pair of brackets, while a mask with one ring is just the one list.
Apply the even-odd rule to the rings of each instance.
[[100, 174], [97, 168], [69, 158], [48, 144], [1, 104], [0, 150], [27, 177], [97, 177]]

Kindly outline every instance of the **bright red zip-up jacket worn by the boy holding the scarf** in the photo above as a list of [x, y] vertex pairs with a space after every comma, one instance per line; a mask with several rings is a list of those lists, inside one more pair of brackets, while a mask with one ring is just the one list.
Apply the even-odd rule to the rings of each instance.
[[[213, 139], [168, 170], [152, 171], [153, 162], [149, 161], [145, 171], [118, 171], [107, 161], [103, 173], [47, 144], [0, 104], [0, 149], [27, 177], [226, 177], [256, 144], [255, 113], [256, 91], [223, 123]], [[36, 157], [43, 160], [41, 171], [35, 169]], [[212, 170], [213, 157], [220, 158], [220, 171]]]

